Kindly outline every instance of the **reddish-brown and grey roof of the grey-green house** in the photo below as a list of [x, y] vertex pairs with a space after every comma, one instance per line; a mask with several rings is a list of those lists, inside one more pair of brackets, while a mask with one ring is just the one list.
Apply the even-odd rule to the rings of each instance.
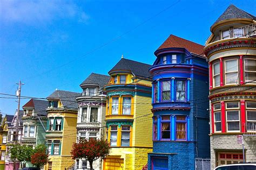
[[31, 98], [31, 100], [25, 105], [23, 105], [22, 108], [24, 109], [26, 107], [34, 108], [35, 112], [39, 115], [47, 115], [47, 112], [45, 109], [48, 108], [48, 101]]

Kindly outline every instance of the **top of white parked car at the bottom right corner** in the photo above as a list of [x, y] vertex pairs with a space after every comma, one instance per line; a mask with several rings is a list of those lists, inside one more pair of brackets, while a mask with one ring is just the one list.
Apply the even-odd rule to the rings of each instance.
[[214, 170], [256, 170], [256, 164], [245, 163], [245, 164], [230, 164], [220, 165]]

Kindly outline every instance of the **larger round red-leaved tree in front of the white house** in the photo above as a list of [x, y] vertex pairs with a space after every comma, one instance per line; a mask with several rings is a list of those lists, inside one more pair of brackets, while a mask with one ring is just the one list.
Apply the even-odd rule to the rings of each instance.
[[105, 158], [110, 153], [110, 146], [107, 141], [98, 139], [81, 139], [78, 143], [73, 143], [71, 155], [72, 159], [86, 159], [92, 168], [92, 162]]

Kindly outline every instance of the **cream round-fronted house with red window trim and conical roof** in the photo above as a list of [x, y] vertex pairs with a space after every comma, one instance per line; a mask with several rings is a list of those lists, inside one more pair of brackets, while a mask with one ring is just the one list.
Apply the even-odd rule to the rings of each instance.
[[255, 28], [255, 16], [230, 5], [211, 26], [206, 41], [212, 168], [256, 161]]

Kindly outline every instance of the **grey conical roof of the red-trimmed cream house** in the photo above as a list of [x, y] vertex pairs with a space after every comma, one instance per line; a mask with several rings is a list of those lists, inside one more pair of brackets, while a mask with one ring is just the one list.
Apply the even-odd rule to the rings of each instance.
[[234, 18], [245, 18], [245, 19], [254, 19], [254, 20], [256, 20], [255, 16], [253, 16], [250, 13], [247, 13], [247, 12], [237, 8], [237, 6], [231, 4], [223, 12], [223, 14], [216, 20], [216, 22], [214, 24], [219, 23], [223, 20], [234, 19]]

